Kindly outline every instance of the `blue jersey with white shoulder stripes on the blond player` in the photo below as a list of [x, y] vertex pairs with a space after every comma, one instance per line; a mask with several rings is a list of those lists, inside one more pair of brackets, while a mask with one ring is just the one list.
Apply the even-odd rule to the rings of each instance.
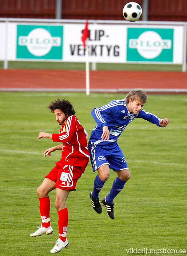
[[[152, 113], [141, 110], [139, 114], [130, 113], [127, 109], [126, 102], [123, 100], [111, 101], [107, 105], [99, 108], [94, 108], [91, 111], [93, 119], [96, 121], [96, 126], [91, 132], [89, 142], [99, 144], [102, 142], [108, 144], [117, 141], [118, 137], [122, 134], [127, 125], [135, 118], [143, 118], [150, 123], [156, 124], [160, 127], [159, 121], [161, 119]], [[103, 141], [101, 139], [103, 127], [107, 125], [110, 131], [110, 139]]]

